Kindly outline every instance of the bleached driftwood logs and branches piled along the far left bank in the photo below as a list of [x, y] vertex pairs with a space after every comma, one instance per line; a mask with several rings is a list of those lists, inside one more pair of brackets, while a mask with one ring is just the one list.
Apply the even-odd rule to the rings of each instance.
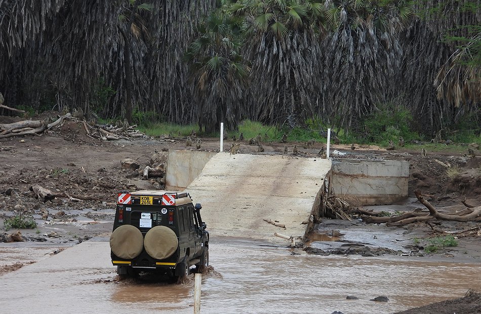
[[70, 113], [59, 116], [57, 120], [49, 123], [50, 119], [25, 120], [15, 123], [0, 124], [0, 139], [36, 134], [40, 135], [45, 131], [51, 130], [62, 125], [64, 120], [76, 121], [82, 123], [87, 136], [100, 141], [116, 141], [119, 139], [132, 140], [135, 138], [145, 138], [146, 135], [132, 126], [115, 126], [111, 124], [98, 125], [87, 123], [85, 120], [72, 117]]

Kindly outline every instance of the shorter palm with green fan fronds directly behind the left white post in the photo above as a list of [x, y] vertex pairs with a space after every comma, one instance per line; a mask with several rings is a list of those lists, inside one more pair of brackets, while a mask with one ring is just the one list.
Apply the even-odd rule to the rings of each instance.
[[242, 117], [249, 66], [239, 51], [242, 39], [237, 21], [218, 10], [199, 26], [199, 37], [189, 47], [185, 61], [197, 104], [199, 130], [211, 133], [225, 122], [233, 129]]

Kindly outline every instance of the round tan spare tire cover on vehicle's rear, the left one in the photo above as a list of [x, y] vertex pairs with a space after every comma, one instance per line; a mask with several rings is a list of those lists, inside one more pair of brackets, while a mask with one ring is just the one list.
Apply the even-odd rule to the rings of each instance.
[[134, 258], [142, 252], [144, 237], [131, 225], [120, 226], [110, 236], [110, 249], [120, 258]]

